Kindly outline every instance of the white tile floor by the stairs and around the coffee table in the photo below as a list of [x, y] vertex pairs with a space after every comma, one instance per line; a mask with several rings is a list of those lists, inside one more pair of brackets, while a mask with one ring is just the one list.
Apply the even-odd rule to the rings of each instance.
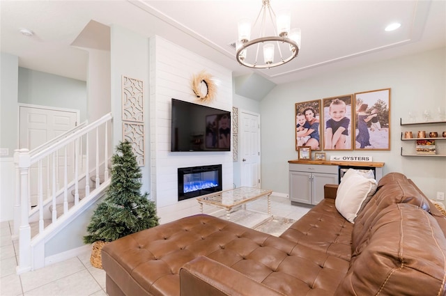
[[[266, 198], [253, 201], [249, 209], [266, 212]], [[271, 212], [277, 217], [299, 219], [309, 208], [290, 205], [288, 198], [272, 196]], [[40, 270], [17, 275], [17, 242], [11, 240], [11, 223], [0, 229], [0, 295], [1, 296], [105, 296], [105, 272], [90, 264], [90, 251]]]

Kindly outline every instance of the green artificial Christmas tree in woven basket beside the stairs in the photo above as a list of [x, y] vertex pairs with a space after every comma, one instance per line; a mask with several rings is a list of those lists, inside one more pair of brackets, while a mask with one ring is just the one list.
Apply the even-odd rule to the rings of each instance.
[[[107, 196], [93, 212], [87, 226], [89, 235], [84, 236], [86, 244], [101, 242], [100, 247], [93, 246], [95, 253], [100, 254], [105, 242], [158, 225], [155, 203], [147, 199], [147, 193], [140, 192], [141, 176], [132, 145], [128, 141], [119, 143], [112, 157], [112, 180]], [[96, 262], [97, 258], [92, 254], [92, 264], [93, 260]], [[102, 264], [94, 265], [102, 268]]]

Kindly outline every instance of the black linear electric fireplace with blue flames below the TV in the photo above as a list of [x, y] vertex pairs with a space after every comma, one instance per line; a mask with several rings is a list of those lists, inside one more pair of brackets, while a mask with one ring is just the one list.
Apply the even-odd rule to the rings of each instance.
[[222, 191], [222, 165], [178, 168], [178, 201]]

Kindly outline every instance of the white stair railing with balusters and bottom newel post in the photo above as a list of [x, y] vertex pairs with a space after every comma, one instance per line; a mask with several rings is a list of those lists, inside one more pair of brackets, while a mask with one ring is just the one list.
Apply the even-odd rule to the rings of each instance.
[[[112, 115], [107, 114], [94, 123], [75, 127], [63, 134], [63, 137], [50, 141], [50, 145], [39, 146], [31, 151], [15, 150], [14, 237], [19, 238], [20, 245], [17, 273], [33, 270], [31, 241], [36, 235], [44, 235], [46, 224], [55, 224], [58, 221], [61, 213], [58, 215], [57, 204], [63, 204], [63, 215], [67, 215], [70, 200], [74, 205], [80, 202], [79, 186], [84, 186], [84, 198], [89, 199], [91, 173], [96, 176], [95, 188], [108, 180], [108, 155], [112, 149], [112, 143], [109, 143], [111, 126]], [[94, 147], [89, 145], [89, 138], [95, 139]], [[93, 160], [95, 166], [91, 169], [89, 162]], [[105, 176], [104, 180], [100, 180], [100, 171]], [[74, 197], [68, 196], [70, 188], [74, 188]], [[31, 201], [33, 197], [37, 198]], [[31, 204], [36, 201], [37, 205], [32, 207]], [[31, 231], [31, 222], [38, 225], [36, 235]]]

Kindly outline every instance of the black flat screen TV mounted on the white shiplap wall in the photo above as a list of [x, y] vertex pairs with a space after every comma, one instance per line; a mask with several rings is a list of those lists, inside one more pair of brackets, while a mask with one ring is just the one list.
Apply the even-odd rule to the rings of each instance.
[[231, 151], [231, 112], [172, 99], [171, 151]]

